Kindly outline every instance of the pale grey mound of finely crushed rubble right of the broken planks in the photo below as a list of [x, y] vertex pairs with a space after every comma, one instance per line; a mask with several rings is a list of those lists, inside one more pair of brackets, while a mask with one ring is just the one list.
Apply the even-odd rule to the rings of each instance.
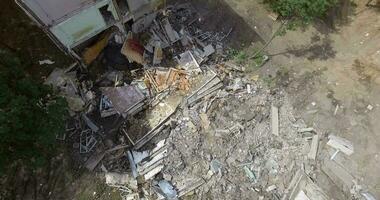
[[[178, 188], [203, 180], [196, 199], [281, 199], [308, 153], [297, 128], [305, 124], [294, 119], [286, 99], [275, 99], [259, 84], [243, 84], [184, 109], [171, 130], [164, 178]], [[280, 136], [271, 134], [273, 102], [283, 104]]]

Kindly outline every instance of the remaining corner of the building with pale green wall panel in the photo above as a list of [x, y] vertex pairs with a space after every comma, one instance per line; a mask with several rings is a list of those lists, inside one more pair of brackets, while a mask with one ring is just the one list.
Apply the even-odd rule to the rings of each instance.
[[[152, 12], [156, 0], [16, 0], [65, 53], [83, 64], [83, 50], [110, 29], [122, 40], [132, 24]], [[88, 53], [87, 53], [88, 54]]]

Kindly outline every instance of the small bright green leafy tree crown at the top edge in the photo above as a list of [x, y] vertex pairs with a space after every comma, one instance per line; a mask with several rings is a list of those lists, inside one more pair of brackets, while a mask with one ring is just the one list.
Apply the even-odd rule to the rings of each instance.
[[337, 0], [265, 0], [271, 9], [281, 17], [290, 20], [288, 28], [310, 24], [323, 17], [334, 7]]

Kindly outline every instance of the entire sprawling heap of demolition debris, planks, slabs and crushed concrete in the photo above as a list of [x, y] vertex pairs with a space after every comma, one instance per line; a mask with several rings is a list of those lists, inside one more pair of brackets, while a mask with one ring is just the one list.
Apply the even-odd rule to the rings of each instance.
[[46, 83], [71, 111], [57, 139], [72, 144], [78, 167], [104, 173], [124, 200], [327, 200], [315, 182], [321, 170], [351, 197], [371, 199], [342, 168], [352, 144], [307, 127], [286, 93], [229, 62], [233, 29], [201, 24], [190, 4], [135, 22], [121, 48], [142, 66], [132, 81], [112, 69], [91, 81], [78, 65], [51, 73]]

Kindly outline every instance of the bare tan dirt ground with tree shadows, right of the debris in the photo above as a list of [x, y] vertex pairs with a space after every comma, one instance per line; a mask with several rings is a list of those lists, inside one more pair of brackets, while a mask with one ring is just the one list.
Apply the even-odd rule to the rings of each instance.
[[[260, 1], [226, 2], [265, 40], [276, 30]], [[380, 12], [355, 3], [354, 15], [336, 30], [321, 23], [277, 37], [260, 75], [279, 75], [310, 126], [354, 143], [346, 167], [380, 197]]]

